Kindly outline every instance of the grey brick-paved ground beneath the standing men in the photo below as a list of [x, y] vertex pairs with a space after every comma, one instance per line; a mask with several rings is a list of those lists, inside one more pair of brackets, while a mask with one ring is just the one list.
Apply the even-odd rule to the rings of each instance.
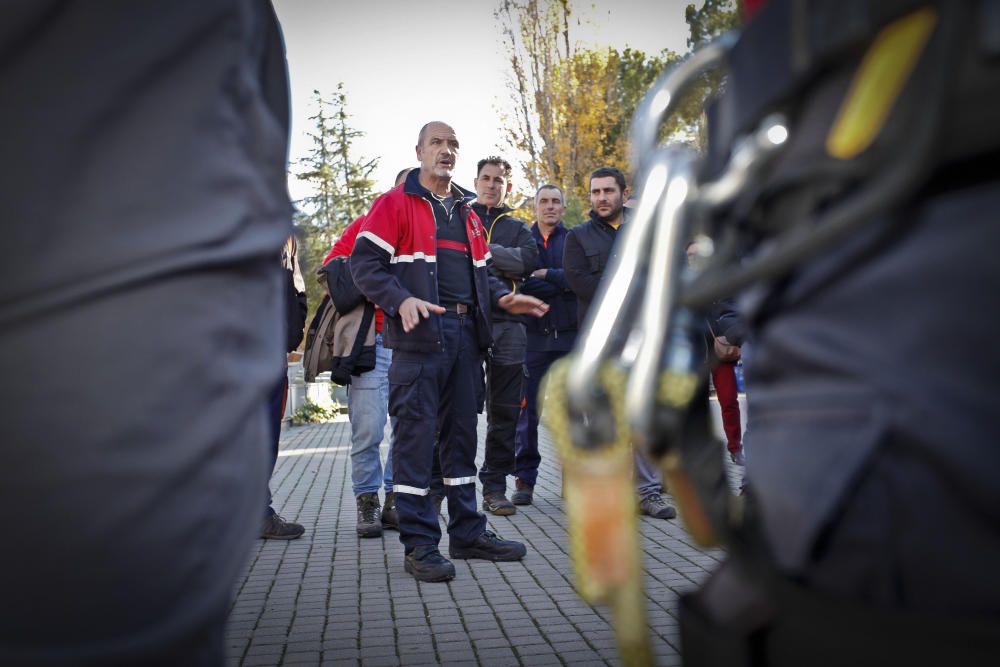
[[[480, 453], [484, 436], [480, 424]], [[551, 441], [535, 504], [489, 516], [522, 540], [519, 563], [455, 561], [448, 584], [403, 572], [398, 533], [359, 539], [350, 479], [350, 425], [283, 432], [272, 478], [275, 507], [306, 526], [291, 542], [258, 541], [227, 633], [232, 665], [616, 665], [606, 608], [573, 589], [561, 478]], [[382, 449], [385, 457], [385, 445]], [[657, 664], [680, 664], [677, 596], [722, 557], [694, 545], [677, 520], [641, 520], [649, 626]], [[447, 533], [441, 551], [447, 554]]]

